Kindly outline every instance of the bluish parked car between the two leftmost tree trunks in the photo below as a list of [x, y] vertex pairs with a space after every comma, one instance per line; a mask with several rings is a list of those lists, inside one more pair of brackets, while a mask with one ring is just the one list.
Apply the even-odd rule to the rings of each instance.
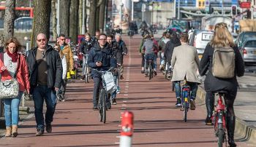
[[14, 28], [18, 30], [31, 30], [32, 25], [32, 17], [19, 17], [14, 21]]

